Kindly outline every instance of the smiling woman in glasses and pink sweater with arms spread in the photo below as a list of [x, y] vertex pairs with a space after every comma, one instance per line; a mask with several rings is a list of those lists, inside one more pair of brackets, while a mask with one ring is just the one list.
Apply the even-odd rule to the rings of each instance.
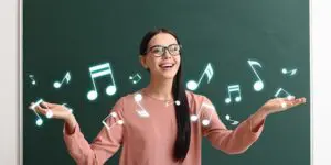
[[260, 135], [265, 119], [306, 102], [305, 98], [277, 98], [227, 130], [212, 102], [185, 91], [181, 81], [181, 46], [177, 35], [160, 29], [145, 35], [141, 65], [150, 72], [149, 85], [121, 97], [105, 127], [88, 144], [74, 114], [63, 106], [43, 102], [36, 111], [63, 119], [64, 140], [77, 164], [104, 164], [122, 145], [120, 165], [200, 165], [201, 140], [228, 154], [245, 152]]

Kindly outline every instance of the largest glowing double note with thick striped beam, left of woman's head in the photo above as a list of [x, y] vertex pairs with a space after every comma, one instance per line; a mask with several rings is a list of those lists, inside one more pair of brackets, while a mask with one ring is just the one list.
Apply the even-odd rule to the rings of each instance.
[[89, 90], [87, 92], [87, 99], [88, 100], [95, 100], [98, 97], [97, 87], [95, 85], [94, 79], [98, 78], [98, 77], [106, 76], [106, 75], [110, 75], [110, 78], [111, 78], [113, 84], [114, 84], [114, 85], [109, 85], [106, 88], [106, 94], [111, 96], [116, 92], [116, 85], [115, 85], [115, 80], [114, 80], [114, 77], [113, 77], [113, 72], [110, 69], [110, 64], [109, 63], [105, 63], [105, 64], [100, 64], [100, 65], [97, 65], [97, 66], [89, 67], [89, 74], [90, 74], [90, 78], [92, 78], [94, 89]]

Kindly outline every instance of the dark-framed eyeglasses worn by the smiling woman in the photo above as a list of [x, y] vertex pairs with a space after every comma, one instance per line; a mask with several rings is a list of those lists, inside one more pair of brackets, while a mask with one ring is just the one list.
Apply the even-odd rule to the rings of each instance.
[[182, 45], [171, 44], [169, 46], [154, 45], [149, 48], [148, 52], [152, 53], [156, 57], [161, 57], [166, 54], [166, 50], [168, 50], [169, 54], [172, 56], [180, 55], [180, 51]]

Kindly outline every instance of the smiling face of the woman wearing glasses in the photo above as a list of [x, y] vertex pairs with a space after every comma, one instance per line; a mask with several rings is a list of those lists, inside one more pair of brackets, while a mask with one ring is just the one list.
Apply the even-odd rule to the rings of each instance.
[[173, 79], [181, 63], [179, 48], [171, 34], [159, 33], [149, 41], [147, 55], [141, 57], [141, 63], [152, 77]]

